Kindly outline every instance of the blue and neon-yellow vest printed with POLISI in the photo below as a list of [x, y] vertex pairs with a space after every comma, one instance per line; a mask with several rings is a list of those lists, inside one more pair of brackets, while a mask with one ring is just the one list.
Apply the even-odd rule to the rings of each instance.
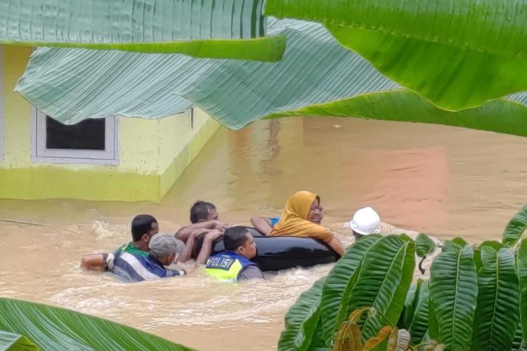
[[248, 265], [254, 265], [247, 258], [235, 253], [219, 253], [207, 260], [205, 271], [223, 282], [237, 282], [238, 274]]

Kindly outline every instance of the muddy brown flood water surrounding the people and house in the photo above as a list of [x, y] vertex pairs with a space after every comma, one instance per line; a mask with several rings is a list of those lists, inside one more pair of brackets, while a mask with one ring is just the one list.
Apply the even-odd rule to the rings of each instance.
[[[122, 284], [83, 272], [84, 253], [129, 241], [129, 222], [150, 213], [162, 232], [188, 223], [196, 199], [229, 223], [280, 214], [297, 190], [320, 194], [324, 224], [352, 242], [344, 223], [373, 206], [384, 223], [445, 239], [500, 239], [527, 204], [527, 138], [360, 119], [260, 121], [221, 129], [162, 204], [0, 200], [0, 296], [67, 307], [199, 350], [273, 350], [283, 315], [330, 266], [221, 284], [188, 277]], [[385, 231], [393, 228], [384, 225]]]

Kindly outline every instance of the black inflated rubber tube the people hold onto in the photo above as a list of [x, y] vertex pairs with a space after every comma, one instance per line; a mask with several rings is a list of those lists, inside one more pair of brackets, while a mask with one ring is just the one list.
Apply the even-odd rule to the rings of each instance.
[[[256, 258], [262, 271], [287, 270], [294, 267], [311, 267], [332, 263], [339, 259], [339, 254], [320, 240], [306, 237], [266, 237], [253, 227], [247, 230], [256, 243]], [[223, 240], [214, 244], [213, 254], [225, 248]]]

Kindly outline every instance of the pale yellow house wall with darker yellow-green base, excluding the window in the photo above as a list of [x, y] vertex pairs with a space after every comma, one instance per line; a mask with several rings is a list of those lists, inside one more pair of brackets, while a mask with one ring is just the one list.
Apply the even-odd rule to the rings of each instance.
[[[31, 159], [32, 106], [13, 93], [31, 49], [3, 47], [4, 157], [0, 197], [161, 201], [219, 127], [200, 110], [164, 119], [119, 119], [119, 164], [43, 164]], [[1, 140], [2, 138], [0, 138]]]

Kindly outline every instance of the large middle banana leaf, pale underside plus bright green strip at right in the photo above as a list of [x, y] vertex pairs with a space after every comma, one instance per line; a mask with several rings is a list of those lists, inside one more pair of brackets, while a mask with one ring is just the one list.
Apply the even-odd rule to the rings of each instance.
[[263, 118], [336, 116], [527, 136], [519, 102], [448, 112], [401, 89], [317, 23], [269, 18], [268, 34], [287, 35], [280, 62], [39, 48], [15, 90], [66, 124], [112, 114], [162, 118], [196, 105], [233, 129]]

